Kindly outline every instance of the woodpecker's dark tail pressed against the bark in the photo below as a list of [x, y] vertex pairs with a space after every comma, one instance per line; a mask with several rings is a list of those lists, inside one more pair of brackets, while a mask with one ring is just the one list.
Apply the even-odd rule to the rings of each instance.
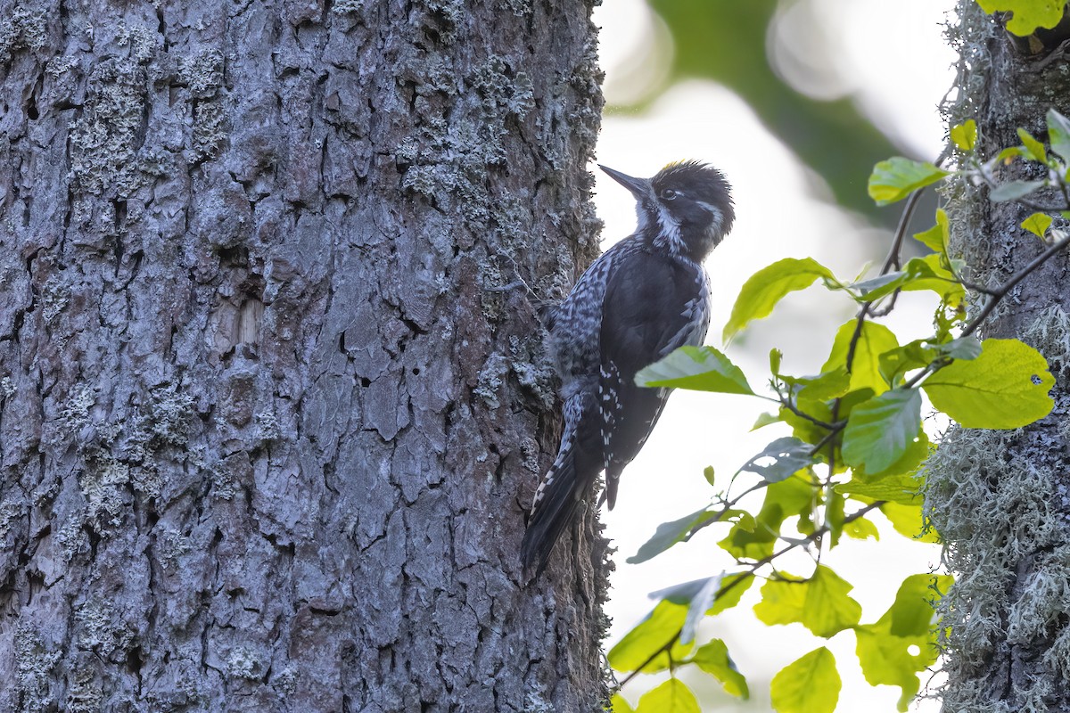
[[537, 577], [546, 569], [553, 545], [572, 522], [586, 483], [577, 478], [576, 450], [568, 448], [557, 453], [549, 472], [539, 484], [528, 520], [528, 530], [520, 546], [524, 570], [537, 565]]

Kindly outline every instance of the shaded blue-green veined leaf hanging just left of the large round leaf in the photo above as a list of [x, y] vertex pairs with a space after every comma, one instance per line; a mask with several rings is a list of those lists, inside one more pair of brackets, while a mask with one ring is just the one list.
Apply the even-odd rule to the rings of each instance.
[[843, 431], [843, 460], [870, 472], [885, 470], [921, 430], [921, 392], [896, 389], [855, 406]]

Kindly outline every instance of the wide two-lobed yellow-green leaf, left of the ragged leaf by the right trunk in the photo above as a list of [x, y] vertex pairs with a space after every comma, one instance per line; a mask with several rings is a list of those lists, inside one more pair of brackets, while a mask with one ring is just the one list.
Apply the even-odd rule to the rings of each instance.
[[[788, 576], [788, 575], [785, 575]], [[769, 579], [762, 586], [762, 601], [754, 615], [766, 624], [801, 623], [828, 638], [858, 623], [862, 607], [847, 596], [854, 587], [836, 572], [819, 564], [806, 580]]]

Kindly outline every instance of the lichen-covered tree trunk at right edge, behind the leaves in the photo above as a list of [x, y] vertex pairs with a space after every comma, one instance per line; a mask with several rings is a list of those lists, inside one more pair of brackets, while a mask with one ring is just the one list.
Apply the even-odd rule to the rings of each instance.
[[[1066, 36], [1029, 57], [974, 0], [959, 4], [952, 40], [962, 51], [952, 123], [976, 119], [981, 155], [1017, 145], [1018, 127], [1043, 139], [1049, 108], [1070, 115]], [[1045, 57], [1048, 60], [1045, 61]], [[1021, 162], [1004, 179], [1023, 179]], [[1028, 176], [1038, 177], [1036, 175]], [[1042, 177], [1042, 176], [1040, 176]], [[1019, 226], [1031, 210], [993, 204], [962, 186], [949, 205], [953, 245], [969, 279], [996, 286], [1042, 251]], [[927, 508], [957, 577], [942, 608], [950, 624], [944, 710], [1070, 710], [1070, 289], [1067, 255], [1056, 255], [997, 308], [985, 337], [1017, 337], [1038, 348], [1055, 376], [1052, 414], [1018, 431], [956, 429], [928, 468]]]

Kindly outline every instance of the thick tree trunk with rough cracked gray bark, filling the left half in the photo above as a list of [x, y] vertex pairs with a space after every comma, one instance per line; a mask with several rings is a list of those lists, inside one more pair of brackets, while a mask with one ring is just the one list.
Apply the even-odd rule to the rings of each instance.
[[598, 710], [590, 10], [0, 0], [0, 710]]

